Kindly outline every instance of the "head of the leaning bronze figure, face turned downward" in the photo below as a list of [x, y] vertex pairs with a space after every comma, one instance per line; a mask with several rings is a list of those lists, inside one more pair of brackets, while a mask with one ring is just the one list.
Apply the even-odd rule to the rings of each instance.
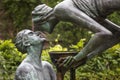
[[49, 20], [46, 20], [46, 17], [50, 15], [52, 8], [46, 4], [38, 5], [32, 11], [32, 21], [34, 24], [35, 30], [46, 31], [51, 33], [51, 26]]

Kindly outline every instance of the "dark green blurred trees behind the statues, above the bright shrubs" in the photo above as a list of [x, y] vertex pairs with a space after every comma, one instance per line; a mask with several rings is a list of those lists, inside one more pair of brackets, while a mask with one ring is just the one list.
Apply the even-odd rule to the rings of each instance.
[[[53, 7], [63, 0], [2, 0], [0, 1], [0, 15], [3, 21], [0, 20], [2, 26], [0, 32], [4, 39], [13, 39], [17, 32], [22, 29], [32, 29], [31, 12], [39, 4], [45, 3]], [[2, 7], [2, 8], [1, 8]], [[120, 12], [115, 12], [108, 18], [113, 22], [120, 24]], [[54, 29], [50, 38], [55, 39], [60, 34], [61, 45], [68, 47], [68, 45], [76, 44], [80, 39], [90, 38], [90, 31], [81, 29], [79, 25], [68, 22], [60, 22]]]

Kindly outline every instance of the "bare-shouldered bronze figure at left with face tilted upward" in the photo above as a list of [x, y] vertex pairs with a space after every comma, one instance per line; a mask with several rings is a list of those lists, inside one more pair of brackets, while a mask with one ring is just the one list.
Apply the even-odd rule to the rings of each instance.
[[56, 80], [52, 65], [41, 61], [44, 41], [44, 36], [28, 29], [17, 34], [15, 45], [27, 57], [17, 68], [15, 80]]

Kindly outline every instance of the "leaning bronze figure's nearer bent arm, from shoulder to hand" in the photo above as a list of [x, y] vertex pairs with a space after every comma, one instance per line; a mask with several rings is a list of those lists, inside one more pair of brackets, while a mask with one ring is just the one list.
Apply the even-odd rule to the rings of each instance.
[[[106, 29], [103, 25], [86, 15], [74, 5], [72, 6], [71, 3], [70, 5], [64, 3], [59, 4], [55, 8], [55, 13], [58, 18], [75, 23], [79, 25], [79, 27], [87, 28], [95, 33], [94, 36], [91, 37], [89, 42], [85, 45], [85, 47], [76, 56], [73, 57], [73, 63], [75, 63], [75, 61], [81, 61], [84, 59], [89, 53], [95, 51], [97, 48], [103, 45], [106, 40], [110, 39], [113, 36], [112, 32], [109, 29]], [[69, 63], [65, 60], [65, 62], [63, 62], [63, 66], [69, 68], [73, 63]]]

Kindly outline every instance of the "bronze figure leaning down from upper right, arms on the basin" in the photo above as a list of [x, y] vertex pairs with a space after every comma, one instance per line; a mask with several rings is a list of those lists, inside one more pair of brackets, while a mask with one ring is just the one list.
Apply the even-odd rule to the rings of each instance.
[[90, 59], [120, 42], [120, 26], [107, 19], [108, 15], [119, 10], [120, 0], [64, 0], [54, 8], [38, 5], [32, 11], [32, 21], [35, 31], [51, 33], [60, 21], [67, 21], [94, 32], [76, 56], [68, 56], [59, 64], [66, 72], [76, 62]]

